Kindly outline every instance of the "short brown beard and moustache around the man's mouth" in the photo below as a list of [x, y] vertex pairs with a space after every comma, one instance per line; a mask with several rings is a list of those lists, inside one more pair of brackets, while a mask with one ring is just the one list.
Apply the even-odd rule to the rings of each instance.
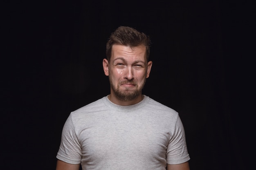
[[[115, 85], [113, 84], [113, 81], [110, 77], [111, 76], [109, 76], [109, 82], [110, 82], [110, 86], [114, 92], [114, 95], [121, 101], [131, 101], [131, 100], [139, 97], [139, 95], [141, 95], [142, 88], [144, 87], [144, 85], [146, 83], [146, 77], [145, 77], [145, 79], [140, 87], [138, 86], [137, 82], [135, 82], [133, 80], [132, 81], [128, 81], [128, 80], [121, 81], [118, 83], [118, 86], [115, 87]], [[135, 90], [130, 91], [129, 88], [126, 88], [125, 90], [121, 91], [120, 90], [121, 84], [126, 84], [126, 83], [134, 84]]]

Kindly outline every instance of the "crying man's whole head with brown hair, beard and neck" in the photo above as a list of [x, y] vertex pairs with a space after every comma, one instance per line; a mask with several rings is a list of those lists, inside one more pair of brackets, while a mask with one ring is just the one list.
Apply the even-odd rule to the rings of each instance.
[[119, 27], [107, 43], [105, 75], [110, 80], [110, 101], [119, 105], [142, 100], [142, 88], [149, 77], [152, 62], [148, 61], [149, 38], [130, 27]]

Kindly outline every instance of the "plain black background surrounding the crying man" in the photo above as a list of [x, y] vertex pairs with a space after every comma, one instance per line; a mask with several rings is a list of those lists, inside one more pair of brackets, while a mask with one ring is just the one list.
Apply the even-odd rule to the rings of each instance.
[[55, 169], [71, 111], [109, 93], [118, 26], [152, 40], [143, 93], [180, 113], [191, 170], [255, 161], [255, 6], [249, 1], [33, 1], [2, 6], [3, 170]]

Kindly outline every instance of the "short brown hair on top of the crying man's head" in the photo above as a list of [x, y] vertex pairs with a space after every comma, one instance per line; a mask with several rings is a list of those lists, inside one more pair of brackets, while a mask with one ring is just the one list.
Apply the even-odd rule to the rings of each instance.
[[128, 26], [119, 26], [113, 33], [106, 45], [106, 57], [110, 61], [113, 44], [125, 45], [130, 47], [146, 46], [146, 59], [149, 58], [150, 38], [148, 35], [137, 31]]

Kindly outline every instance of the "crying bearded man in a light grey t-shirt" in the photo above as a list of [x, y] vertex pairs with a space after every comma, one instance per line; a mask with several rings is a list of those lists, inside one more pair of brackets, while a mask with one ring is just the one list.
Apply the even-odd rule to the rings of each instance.
[[103, 59], [110, 95], [67, 118], [56, 170], [189, 170], [178, 113], [141, 92], [152, 66], [149, 44], [127, 26], [111, 34]]

